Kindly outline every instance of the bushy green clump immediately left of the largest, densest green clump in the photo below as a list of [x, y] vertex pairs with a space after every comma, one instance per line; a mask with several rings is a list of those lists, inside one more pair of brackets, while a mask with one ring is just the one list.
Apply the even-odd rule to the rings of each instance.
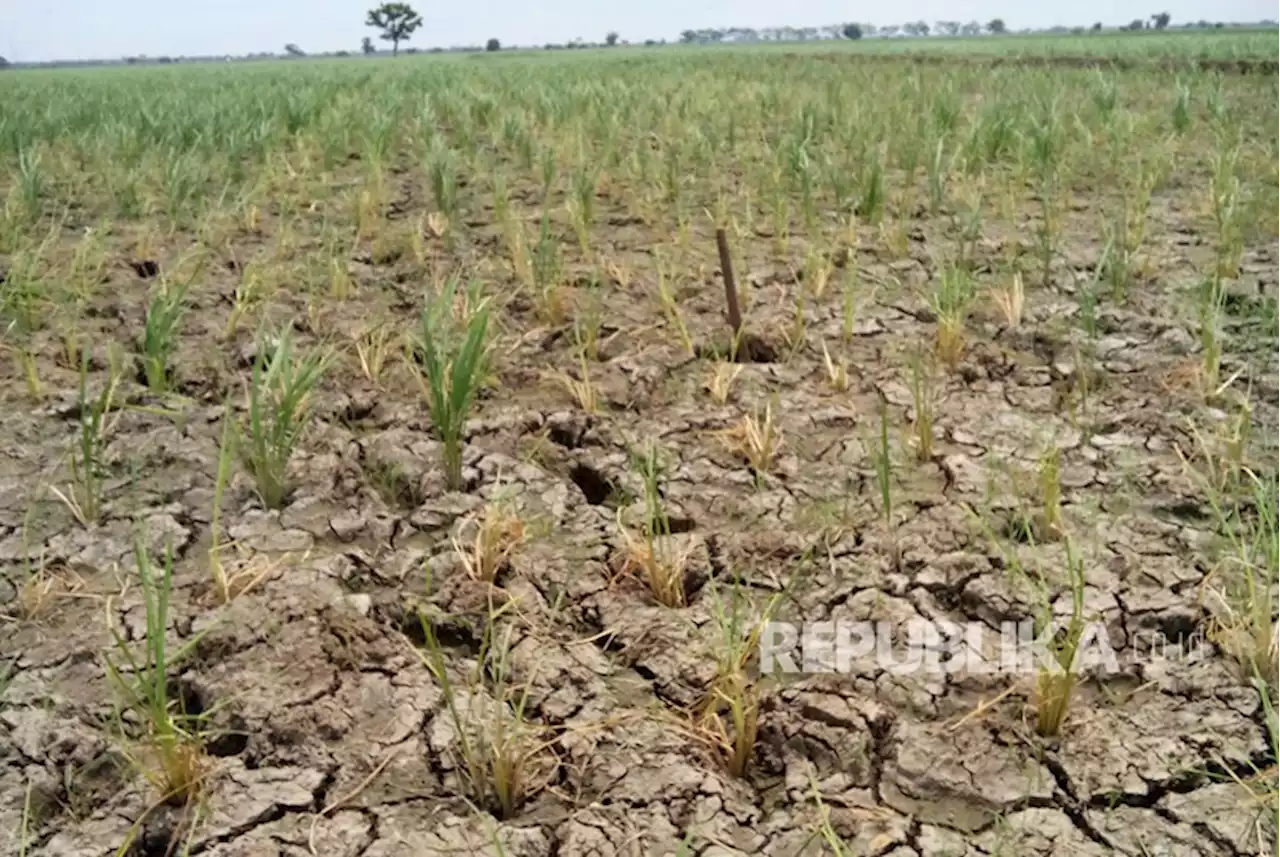
[[237, 448], [268, 509], [279, 509], [289, 494], [288, 466], [311, 420], [311, 395], [329, 368], [330, 354], [298, 357], [285, 327], [274, 344], [259, 340], [248, 385], [248, 425]]

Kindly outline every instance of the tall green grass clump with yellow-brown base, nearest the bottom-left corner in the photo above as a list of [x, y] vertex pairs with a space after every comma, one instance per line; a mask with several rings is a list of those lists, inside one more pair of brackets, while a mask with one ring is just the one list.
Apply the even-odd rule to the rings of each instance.
[[[196, 728], [198, 719], [182, 710], [180, 698], [174, 698], [170, 688], [174, 668], [191, 655], [200, 634], [175, 651], [165, 641], [173, 588], [172, 549], [166, 550], [159, 573], [141, 537], [134, 556], [146, 608], [146, 638], [137, 652], [136, 643], [111, 622], [115, 656], [105, 657], [106, 673], [118, 696], [116, 721], [122, 730], [124, 711], [134, 712], [142, 723], [140, 751], [131, 751], [129, 760], [165, 803], [186, 806], [204, 792], [210, 762]], [[108, 608], [110, 615], [110, 600]]]

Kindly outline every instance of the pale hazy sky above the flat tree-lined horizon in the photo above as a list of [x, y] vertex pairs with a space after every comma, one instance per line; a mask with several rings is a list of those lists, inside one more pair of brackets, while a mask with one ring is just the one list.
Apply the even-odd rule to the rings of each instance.
[[[10, 61], [207, 56], [273, 51], [288, 42], [305, 51], [360, 49], [375, 31], [364, 26], [372, 0], [0, 0], [0, 56]], [[1124, 24], [1167, 12], [1185, 20], [1254, 22], [1277, 15], [1274, 0], [411, 0], [422, 15], [413, 47], [543, 45], [573, 38], [676, 40], [705, 27], [820, 27], [841, 22], [877, 26], [908, 20], [1002, 18], [1010, 29], [1056, 24]], [[381, 43], [381, 42], [379, 42]]]

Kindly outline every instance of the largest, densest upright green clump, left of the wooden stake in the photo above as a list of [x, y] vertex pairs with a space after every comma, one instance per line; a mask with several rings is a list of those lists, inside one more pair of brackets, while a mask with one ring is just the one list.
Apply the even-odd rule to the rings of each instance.
[[462, 302], [454, 317], [457, 280], [451, 279], [422, 308], [416, 343], [431, 422], [444, 444], [444, 477], [449, 489], [462, 487], [462, 430], [484, 379], [488, 358], [488, 302]]

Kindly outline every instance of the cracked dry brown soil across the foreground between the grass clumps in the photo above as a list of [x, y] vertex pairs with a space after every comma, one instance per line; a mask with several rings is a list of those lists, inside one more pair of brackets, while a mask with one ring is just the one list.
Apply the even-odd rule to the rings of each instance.
[[[401, 210], [422, 210], [421, 191], [401, 180]], [[210, 602], [206, 550], [220, 403], [234, 394], [238, 407], [251, 345], [244, 331], [219, 338], [232, 266], [192, 290], [177, 363], [183, 418], [118, 416], [105, 515], [92, 528], [76, 526], [42, 490], [65, 480], [73, 393], [17, 404], [20, 380], [8, 376], [0, 602], [17, 599], [27, 556], [42, 555], [63, 588], [37, 620], [0, 625], [0, 852], [18, 853], [24, 805], [28, 854], [105, 856], [136, 835], [132, 853], [152, 857], [184, 830], [180, 814], [156, 808], [125, 764], [102, 666], [108, 619], [129, 640], [143, 633], [131, 582], [138, 527], [152, 549], [175, 551], [173, 643], [204, 633], [174, 677], [212, 729], [215, 771], [187, 842], [192, 854], [588, 857], [675, 853], [685, 840], [696, 853], [815, 854], [820, 812], [847, 853], [886, 857], [1270, 851], [1275, 831], [1233, 782], [1275, 762], [1257, 695], [1212, 647], [1193, 661], [1140, 657], [1156, 642], [1203, 631], [1198, 590], [1211, 567], [1212, 515], [1178, 454], [1194, 448], [1188, 426], [1206, 416], [1180, 381], [1198, 358], [1178, 307], [1211, 249], [1176, 206], [1178, 189], [1162, 193], [1151, 275], [1124, 306], [1100, 308], [1102, 379], [1091, 411], [1073, 417], [1064, 404], [1076, 371], [1075, 290], [1100, 249], [1087, 237], [1096, 212], [1082, 206], [1052, 285], [1029, 289], [1025, 325], [1006, 329], [986, 308], [972, 322], [964, 359], [940, 380], [936, 450], [924, 463], [900, 449], [913, 417], [901, 354], [934, 335], [920, 290], [934, 275], [929, 248], [950, 240], [946, 219], [920, 217], [905, 257], [888, 258], [873, 239], [855, 251], [868, 299], [846, 393], [827, 389], [818, 344], [838, 338], [838, 294], [808, 303], [808, 339], [786, 348], [780, 331], [804, 285], [773, 260], [768, 238], [737, 240], [749, 324], [777, 343], [778, 359], [745, 365], [717, 405], [704, 390], [709, 362], [687, 357], [653, 298], [648, 253], [660, 230], [614, 205], [603, 240], [636, 274], [604, 290], [605, 333], [616, 335], [602, 340], [591, 367], [600, 412], [581, 413], [543, 377], [573, 370], [567, 329], [518, 302], [506, 306], [495, 386], [467, 426], [467, 490], [447, 492], [413, 381], [397, 367], [376, 389], [343, 363], [316, 399], [287, 508], [264, 510], [243, 475], [228, 491], [229, 537], [244, 555], [278, 564], [227, 608]], [[559, 228], [572, 246], [568, 226]], [[241, 257], [251, 255], [256, 239], [237, 240]], [[456, 249], [429, 240], [439, 260], [471, 255], [475, 263], [499, 252], [495, 228], [483, 223]], [[988, 234], [979, 255], [996, 258], [1015, 240], [1029, 239]], [[179, 251], [166, 249], [159, 263], [174, 263]], [[498, 270], [490, 276], [502, 284]], [[716, 270], [713, 240], [695, 230], [684, 306], [701, 344], [723, 336]], [[1274, 290], [1280, 249], [1248, 248], [1243, 270], [1245, 292]], [[324, 306], [319, 321], [283, 293], [268, 313], [297, 318], [303, 343], [320, 342], [317, 331], [351, 336], [378, 312], [412, 322], [422, 279], [410, 261], [357, 255], [351, 271], [358, 297]], [[87, 316], [99, 325], [100, 366], [102, 342], [129, 342], [143, 302], [123, 251], [110, 278], [102, 306]], [[55, 350], [46, 343], [47, 386], [72, 391], [76, 375]], [[1242, 366], [1229, 358], [1226, 372]], [[1280, 377], [1267, 365], [1251, 372], [1254, 418], [1274, 426]], [[127, 395], [150, 402], [141, 388]], [[756, 480], [717, 432], [769, 397], [785, 445]], [[882, 399], [899, 459], [899, 562], [877, 510], [872, 448]], [[641, 496], [627, 453], [646, 439], [668, 457], [666, 503], [681, 537], [698, 546], [691, 604], [680, 610], [616, 574], [617, 509], [634, 510]], [[995, 632], [1027, 617], [1032, 596], [1006, 573], [983, 522], [998, 526], [1025, 501], [1007, 473], [1033, 472], [1050, 443], [1061, 450], [1064, 513], [1085, 563], [1087, 601], [1121, 664], [1089, 677], [1060, 739], [1034, 735], [1024, 686], [966, 716], [1005, 692], [1010, 677], [899, 674], [876, 664], [768, 686], [742, 778], [680, 728], [714, 675], [712, 599], [732, 582], [758, 606], [790, 583], [780, 614], [788, 620], [951, 619]], [[399, 466], [403, 490], [379, 490], [388, 462]], [[495, 594], [462, 573], [449, 536], [499, 494], [516, 498], [530, 539]], [[1028, 565], [1064, 565], [1061, 545], [1021, 550]], [[500, 822], [462, 798], [456, 735], [412, 620], [416, 609], [434, 617], [461, 672], [474, 665], [495, 597], [515, 604], [498, 631], [511, 634], [515, 680], [529, 684], [527, 714], [549, 735], [534, 793]]]

